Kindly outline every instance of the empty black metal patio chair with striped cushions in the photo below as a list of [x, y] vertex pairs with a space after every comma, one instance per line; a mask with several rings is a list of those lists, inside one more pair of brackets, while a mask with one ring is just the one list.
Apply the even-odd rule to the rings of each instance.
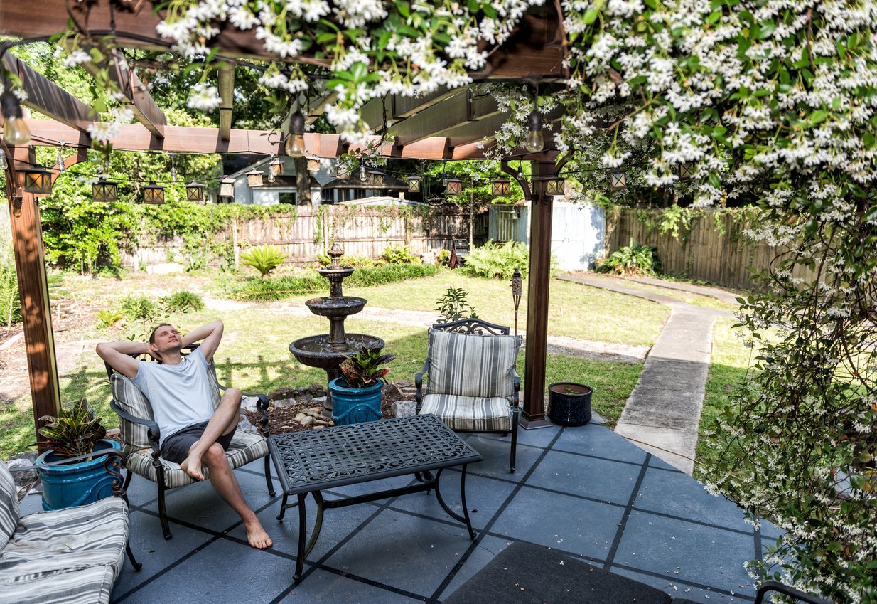
[[[426, 363], [414, 377], [418, 413], [433, 413], [456, 432], [511, 434], [515, 471], [521, 338], [479, 319], [437, 323], [429, 330]], [[429, 374], [422, 396], [424, 374]]]

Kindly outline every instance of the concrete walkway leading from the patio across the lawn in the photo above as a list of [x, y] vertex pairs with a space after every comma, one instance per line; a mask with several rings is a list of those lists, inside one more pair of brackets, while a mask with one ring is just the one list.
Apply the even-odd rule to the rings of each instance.
[[559, 278], [670, 306], [670, 317], [645, 359], [645, 369], [627, 399], [615, 431], [667, 464], [691, 474], [709, 371], [712, 327], [717, 317], [733, 314], [635, 289], [615, 277], [581, 274]]

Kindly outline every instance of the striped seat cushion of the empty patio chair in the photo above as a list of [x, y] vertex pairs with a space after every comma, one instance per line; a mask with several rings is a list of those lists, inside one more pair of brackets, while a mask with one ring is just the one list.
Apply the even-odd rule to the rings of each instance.
[[497, 397], [479, 399], [452, 394], [427, 394], [420, 413], [438, 415], [439, 419], [452, 430], [469, 432], [511, 430], [509, 401]]

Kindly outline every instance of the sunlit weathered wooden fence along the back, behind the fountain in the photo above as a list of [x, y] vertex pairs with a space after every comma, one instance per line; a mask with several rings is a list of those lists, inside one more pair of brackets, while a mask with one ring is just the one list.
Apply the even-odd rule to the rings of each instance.
[[[390, 245], [407, 246], [414, 255], [430, 255], [450, 249], [454, 239], [468, 239], [469, 215], [462, 207], [350, 207], [323, 205], [296, 207], [289, 214], [232, 220], [210, 241], [211, 248], [224, 248], [235, 264], [241, 253], [260, 245], [273, 245], [287, 255], [286, 262], [316, 262], [338, 242], [346, 255], [377, 258]], [[132, 253], [123, 253], [123, 266], [137, 270], [162, 262], [191, 261], [203, 250], [186, 246], [182, 237], [139, 241]], [[208, 262], [217, 258], [208, 258]]]

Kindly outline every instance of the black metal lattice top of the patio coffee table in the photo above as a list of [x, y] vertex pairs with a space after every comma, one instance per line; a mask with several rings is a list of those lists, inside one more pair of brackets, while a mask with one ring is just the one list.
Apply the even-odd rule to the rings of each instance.
[[268, 446], [290, 495], [481, 461], [435, 415], [275, 435]]

